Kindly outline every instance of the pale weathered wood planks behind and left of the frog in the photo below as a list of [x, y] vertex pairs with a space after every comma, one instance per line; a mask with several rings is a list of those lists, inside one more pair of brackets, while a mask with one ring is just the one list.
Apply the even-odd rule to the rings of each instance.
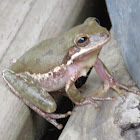
[[[34, 44], [74, 26], [84, 3], [84, 0], [1, 0], [0, 73], [10, 66], [11, 59], [19, 58]], [[31, 110], [10, 92], [2, 78], [0, 96], [0, 140], [38, 139], [44, 120], [31, 115]]]

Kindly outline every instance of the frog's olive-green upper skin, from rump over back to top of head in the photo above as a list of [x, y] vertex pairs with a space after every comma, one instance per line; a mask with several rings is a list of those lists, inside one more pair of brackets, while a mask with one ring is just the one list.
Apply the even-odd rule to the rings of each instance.
[[[16, 73], [28, 71], [30, 73], [46, 73], [51, 69], [65, 64], [69, 49], [74, 45], [78, 34], [94, 34], [101, 26], [93, 18], [88, 18], [61, 36], [44, 40], [23, 54], [10, 69]], [[101, 28], [102, 31], [102, 28]]]

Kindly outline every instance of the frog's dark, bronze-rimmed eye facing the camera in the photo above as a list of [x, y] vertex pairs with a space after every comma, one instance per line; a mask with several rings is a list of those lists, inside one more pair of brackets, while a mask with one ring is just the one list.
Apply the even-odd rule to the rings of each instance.
[[89, 43], [89, 37], [86, 34], [80, 34], [75, 38], [75, 44], [84, 47]]

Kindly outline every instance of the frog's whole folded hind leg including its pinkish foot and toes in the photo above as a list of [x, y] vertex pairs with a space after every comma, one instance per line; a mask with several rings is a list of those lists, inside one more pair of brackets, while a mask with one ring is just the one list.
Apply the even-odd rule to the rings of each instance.
[[16, 74], [11, 70], [3, 71], [3, 79], [8, 84], [10, 89], [31, 109], [44, 117], [58, 129], [62, 128], [55, 119], [65, 118], [71, 115], [71, 112], [66, 114], [54, 114], [56, 103], [48, 92], [45, 92], [33, 82], [32, 78], [26, 75]]

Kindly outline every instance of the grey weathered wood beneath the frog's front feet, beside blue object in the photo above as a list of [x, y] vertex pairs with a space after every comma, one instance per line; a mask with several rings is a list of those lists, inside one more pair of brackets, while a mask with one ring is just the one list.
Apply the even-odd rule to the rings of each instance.
[[[111, 32], [111, 36], [111, 40], [103, 47], [100, 58], [116, 80], [130, 84], [132, 79], [126, 70], [113, 32]], [[96, 72], [92, 70], [86, 86], [81, 90], [87, 96], [93, 91], [101, 90], [102, 88], [103, 82]], [[92, 105], [76, 107], [76, 112], [70, 117], [59, 140], [139, 140], [139, 127], [130, 129], [124, 133], [124, 136], [121, 136], [120, 126], [124, 125], [126, 127], [129, 126], [126, 125], [129, 123], [140, 125], [140, 110], [138, 106], [140, 96], [124, 90], [122, 92], [126, 94], [127, 98], [120, 106], [119, 103], [122, 102], [122, 99], [115, 91], [109, 90], [108, 93], [101, 95], [101, 97], [116, 96], [117, 100], [98, 102], [102, 110], [95, 110]]]

